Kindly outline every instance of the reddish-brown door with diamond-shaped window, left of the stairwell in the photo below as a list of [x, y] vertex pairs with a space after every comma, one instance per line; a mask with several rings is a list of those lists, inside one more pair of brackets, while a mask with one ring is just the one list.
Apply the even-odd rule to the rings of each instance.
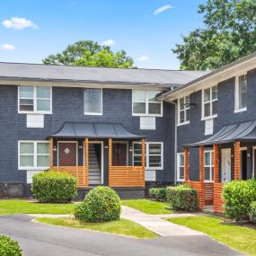
[[60, 142], [58, 143], [58, 166], [76, 165], [76, 143]]

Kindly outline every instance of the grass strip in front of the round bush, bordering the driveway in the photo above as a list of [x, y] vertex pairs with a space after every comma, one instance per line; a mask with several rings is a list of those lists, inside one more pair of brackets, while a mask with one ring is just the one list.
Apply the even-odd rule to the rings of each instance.
[[80, 223], [79, 221], [68, 218], [68, 217], [58, 217], [58, 218], [48, 218], [48, 217], [38, 217], [36, 221], [48, 224], [48, 225], [61, 225], [66, 227], [73, 227], [79, 229], [89, 229], [94, 231], [101, 231], [105, 233], [119, 234], [125, 236], [131, 236], [136, 238], [155, 238], [157, 234], [149, 231], [142, 225], [138, 225], [132, 221], [126, 219], [120, 219], [117, 221], [110, 221], [104, 223]]

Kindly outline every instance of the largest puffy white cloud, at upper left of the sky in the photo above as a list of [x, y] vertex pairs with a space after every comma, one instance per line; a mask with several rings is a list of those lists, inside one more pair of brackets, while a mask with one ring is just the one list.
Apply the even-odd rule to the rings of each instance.
[[2, 25], [6, 29], [22, 30], [26, 28], [39, 29], [39, 26], [30, 20], [19, 17], [12, 17], [9, 20], [4, 20]]

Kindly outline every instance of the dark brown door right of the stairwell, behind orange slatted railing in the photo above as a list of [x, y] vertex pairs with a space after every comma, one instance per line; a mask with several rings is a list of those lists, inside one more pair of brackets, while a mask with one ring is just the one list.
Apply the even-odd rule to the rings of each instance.
[[112, 161], [115, 166], [127, 165], [128, 145], [126, 143], [113, 143]]

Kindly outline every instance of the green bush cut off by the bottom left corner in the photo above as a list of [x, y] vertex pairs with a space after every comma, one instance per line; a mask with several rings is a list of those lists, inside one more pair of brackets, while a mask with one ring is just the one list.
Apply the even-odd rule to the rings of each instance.
[[22, 249], [19, 244], [10, 237], [0, 235], [1, 256], [22, 256]]

